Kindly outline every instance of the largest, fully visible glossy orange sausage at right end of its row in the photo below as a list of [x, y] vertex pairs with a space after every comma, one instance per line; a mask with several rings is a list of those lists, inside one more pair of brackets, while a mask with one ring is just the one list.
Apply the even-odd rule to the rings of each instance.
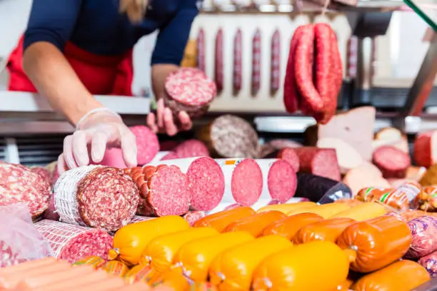
[[405, 255], [411, 232], [405, 222], [383, 215], [348, 226], [337, 245], [348, 253], [351, 270], [373, 272]]

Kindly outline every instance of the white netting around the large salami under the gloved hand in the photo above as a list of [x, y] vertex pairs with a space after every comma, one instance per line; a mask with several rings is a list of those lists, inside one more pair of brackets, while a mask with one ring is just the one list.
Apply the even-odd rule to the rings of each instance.
[[76, 197], [79, 182], [98, 165], [86, 165], [74, 168], [62, 174], [54, 186], [54, 204], [59, 217], [64, 223], [84, 225], [79, 215], [79, 202]]

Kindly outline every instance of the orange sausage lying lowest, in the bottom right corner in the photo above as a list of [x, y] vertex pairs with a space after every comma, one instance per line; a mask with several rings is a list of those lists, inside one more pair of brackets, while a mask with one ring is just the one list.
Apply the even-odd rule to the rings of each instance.
[[352, 289], [356, 291], [409, 291], [430, 280], [426, 269], [417, 262], [401, 260], [361, 277]]

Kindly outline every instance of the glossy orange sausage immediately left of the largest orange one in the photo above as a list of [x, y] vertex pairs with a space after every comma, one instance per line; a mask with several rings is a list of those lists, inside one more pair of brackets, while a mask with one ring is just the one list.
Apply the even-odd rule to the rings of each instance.
[[318, 223], [306, 225], [293, 237], [293, 242], [301, 244], [313, 240], [328, 240], [336, 242], [343, 230], [356, 221], [351, 218], [330, 218], [321, 220]]

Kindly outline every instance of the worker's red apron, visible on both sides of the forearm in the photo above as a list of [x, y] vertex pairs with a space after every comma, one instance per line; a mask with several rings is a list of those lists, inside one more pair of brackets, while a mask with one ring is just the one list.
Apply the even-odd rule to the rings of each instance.
[[[23, 41], [12, 51], [6, 68], [10, 73], [9, 91], [36, 93], [36, 88], [23, 71]], [[122, 56], [99, 56], [67, 42], [64, 56], [91, 94], [132, 96], [134, 79], [132, 50]]]

